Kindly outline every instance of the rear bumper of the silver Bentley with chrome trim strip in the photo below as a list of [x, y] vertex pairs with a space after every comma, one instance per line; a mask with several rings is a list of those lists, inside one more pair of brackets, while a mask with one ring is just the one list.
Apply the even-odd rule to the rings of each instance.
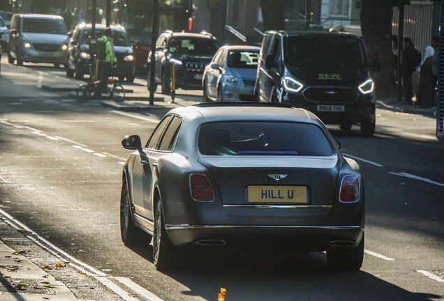
[[197, 242], [210, 245], [291, 243], [298, 251], [323, 252], [335, 247], [355, 247], [362, 238], [364, 226], [226, 226], [165, 225], [175, 245]]

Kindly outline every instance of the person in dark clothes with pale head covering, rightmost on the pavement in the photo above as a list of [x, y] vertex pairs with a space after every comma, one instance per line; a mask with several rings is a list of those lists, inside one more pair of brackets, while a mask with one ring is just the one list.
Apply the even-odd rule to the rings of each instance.
[[431, 46], [426, 47], [426, 53], [424, 60], [422, 60], [420, 66], [420, 86], [417, 91], [415, 105], [419, 107], [433, 107], [435, 105], [435, 81], [434, 72], [432, 70], [434, 60], [434, 48]]

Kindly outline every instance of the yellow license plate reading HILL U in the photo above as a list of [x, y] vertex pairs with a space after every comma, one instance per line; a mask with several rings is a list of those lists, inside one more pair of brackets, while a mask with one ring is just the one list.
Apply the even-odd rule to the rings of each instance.
[[249, 203], [307, 203], [306, 186], [249, 186]]

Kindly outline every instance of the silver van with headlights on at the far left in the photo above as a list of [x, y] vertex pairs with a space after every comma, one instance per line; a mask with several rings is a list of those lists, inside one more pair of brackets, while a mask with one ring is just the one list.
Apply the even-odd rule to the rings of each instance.
[[56, 15], [15, 14], [10, 22], [8, 61], [66, 64], [68, 32]]

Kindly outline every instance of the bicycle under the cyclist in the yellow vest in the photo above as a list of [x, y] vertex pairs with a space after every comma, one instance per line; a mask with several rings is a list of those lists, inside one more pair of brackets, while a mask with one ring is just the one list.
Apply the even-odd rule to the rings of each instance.
[[[91, 93], [94, 93], [100, 84], [100, 80], [94, 81], [94, 74], [93, 74], [93, 63], [89, 64], [89, 82], [87, 84], [80, 84], [77, 87], [76, 95], [77, 100], [80, 102], [88, 102], [91, 99]], [[112, 87], [110, 88], [110, 84], [112, 84]], [[114, 77], [108, 78], [107, 82], [107, 88], [108, 91], [111, 92], [111, 98], [115, 102], [121, 102], [125, 99], [125, 89], [121, 84], [117, 82], [117, 79]]]

